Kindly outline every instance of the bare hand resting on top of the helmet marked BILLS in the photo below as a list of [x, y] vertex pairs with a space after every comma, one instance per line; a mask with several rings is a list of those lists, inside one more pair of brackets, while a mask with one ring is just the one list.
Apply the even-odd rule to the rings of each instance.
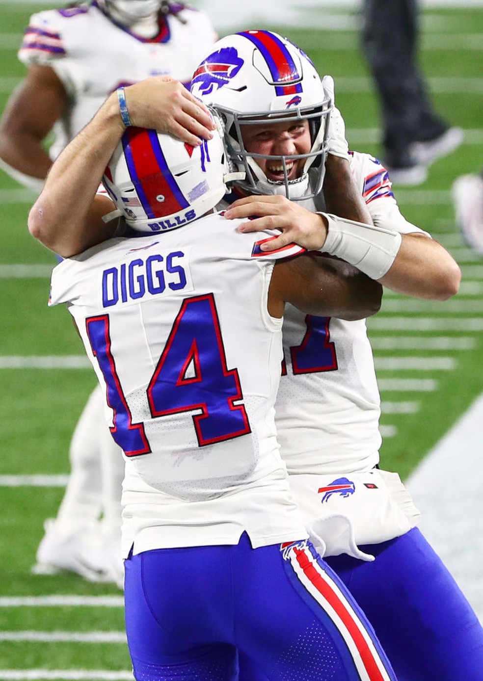
[[125, 88], [126, 106], [132, 125], [153, 128], [199, 146], [210, 140], [213, 118], [201, 101], [181, 82], [169, 76], [153, 76]]

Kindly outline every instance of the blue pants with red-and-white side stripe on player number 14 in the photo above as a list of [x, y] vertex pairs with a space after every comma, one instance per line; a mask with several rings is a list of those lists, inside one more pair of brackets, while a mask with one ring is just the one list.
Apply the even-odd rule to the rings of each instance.
[[360, 608], [309, 542], [159, 549], [125, 561], [138, 681], [395, 681]]

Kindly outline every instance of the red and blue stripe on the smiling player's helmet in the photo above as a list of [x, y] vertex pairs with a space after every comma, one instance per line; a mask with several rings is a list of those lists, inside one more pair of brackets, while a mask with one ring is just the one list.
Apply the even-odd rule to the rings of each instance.
[[262, 53], [270, 69], [277, 96], [302, 92], [302, 74], [299, 73], [287, 46], [277, 35], [270, 31], [242, 31], [238, 35], [249, 39]]

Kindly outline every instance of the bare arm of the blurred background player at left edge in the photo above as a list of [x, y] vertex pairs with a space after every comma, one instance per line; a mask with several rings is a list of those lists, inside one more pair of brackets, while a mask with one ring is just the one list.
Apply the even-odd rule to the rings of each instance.
[[67, 107], [67, 94], [50, 66], [33, 64], [10, 96], [0, 120], [2, 167], [22, 184], [42, 188], [52, 161], [43, 141]]

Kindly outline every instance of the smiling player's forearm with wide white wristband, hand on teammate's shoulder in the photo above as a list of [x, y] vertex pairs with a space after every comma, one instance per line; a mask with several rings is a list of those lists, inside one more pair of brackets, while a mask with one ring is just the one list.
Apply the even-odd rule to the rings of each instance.
[[[371, 279], [407, 296], [446, 300], [457, 293], [461, 271], [441, 244], [415, 232], [401, 234], [327, 213], [312, 213], [282, 196], [249, 196], [225, 212], [228, 219], [258, 216], [238, 229], [258, 232], [279, 229], [281, 235], [262, 244], [273, 251], [288, 243], [339, 257]], [[394, 225], [395, 226], [395, 225]]]

